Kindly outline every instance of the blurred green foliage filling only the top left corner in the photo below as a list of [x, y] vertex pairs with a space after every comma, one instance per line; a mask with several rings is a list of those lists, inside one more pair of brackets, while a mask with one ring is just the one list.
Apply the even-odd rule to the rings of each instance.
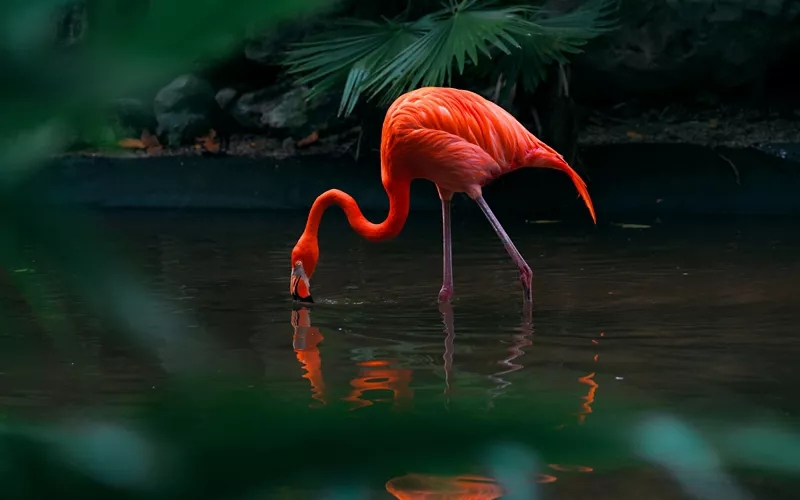
[[6, 146], [44, 124], [60, 136], [114, 98], [162, 85], [238, 50], [256, 27], [269, 29], [333, 0], [87, 0], [85, 36], [65, 47], [56, 39], [56, 26], [69, 3], [12, 0], [0, 6], [0, 137]]

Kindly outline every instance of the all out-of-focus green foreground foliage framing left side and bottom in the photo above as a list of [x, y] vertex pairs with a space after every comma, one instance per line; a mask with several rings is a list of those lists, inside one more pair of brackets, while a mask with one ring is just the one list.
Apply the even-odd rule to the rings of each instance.
[[[59, 347], [69, 349], [80, 339], [59, 321], [64, 304], [52, 299], [60, 294], [43, 275], [57, 277], [75, 297], [70, 307], [105, 320], [106, 335], [120, 336], [162, 360], [167, 382], [117, 421], [32, 423], [4, 408], [0, 497], [260, 498], [284, 486], [380, 489], [410, 469], [463, 474], [488, 468], [501, 479], [522, 478], [520, 484], [527, 484], [538, 459], [595, 461], [606, 470], [656, 464], [695, 496], [735, 498], [723, 461], [745, 470], [800, 471], [800, 438], [791, 421], [734, 426], [711, 419], [694, 431], [679, 418], [617, 402], [609, 405], [605, 420], [554, 433], [563, 413], [555, 398], [498, 402], [491, 415], [469, 408], [445, 411], [424, 401], [418, 404], [427, 411], [411, 414], [356, 413], [337, 406], [311, 410], [308, 401], [292, 394], [254, 390], [204, 373], [192, 349], [200, 329], [180, 326], [188, 322], [177, 321], [174, 311], [142, 285], [134, 266], [93, 219], [50, 205], [31, 178], [60, 151], [63, 122], [100, 109], [107, 98], [131, 88], [212, 60], [235, 45], [251, 23], [268, 25], [320, 3], [243, 1], [233, 8], [215, 1], [153, 2], [158, 5], [131, 23], [119, 10], [122, 3], [106, 2], [93, 11], [96, 22], [108, 28], [69, 53], [28, 38], [41, 16], [52, 14], [59, 3], [26, 0], [2, 7], [3, 19], [15, 31], [0, 42], [10, 68], [0, 77], [6, 90], [0, 127], [7, 138], [0, 153], [0, 269]], [[512, 36], [496, 31], [501, 43], [506, 36], [501, 33]], [[420, 81], [426, 81], [429, 69], [420, 73]], [[414, 84], [418, 76], [406, 81]], [[0, 327], [15, 328], [13, 312], [0, 314]], [[697, 477], [705, 482], [698, 486]], [[709, 495], [703, 484], [718, 488]]]

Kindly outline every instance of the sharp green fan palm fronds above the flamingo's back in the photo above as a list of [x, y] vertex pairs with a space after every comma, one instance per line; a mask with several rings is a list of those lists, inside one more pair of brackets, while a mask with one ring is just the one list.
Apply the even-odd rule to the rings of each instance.
[[316, 39], [294, 44], [289, 72], [315, 92], [342, 87], [339, 113], [347, 115], [359, 97], [381, 96], [386, 104], [420, 86], [450, 84], [481, 56], [500, 54], [498, 70], [509, 81], [522, 78], [533, 90], [547, 66], [612, 28], [614, 0], [599, 0], [554, 14], [527, 5], [494, 6], [480, 0], [450, 0], [445, 8], [416, 21], [343, 20]]

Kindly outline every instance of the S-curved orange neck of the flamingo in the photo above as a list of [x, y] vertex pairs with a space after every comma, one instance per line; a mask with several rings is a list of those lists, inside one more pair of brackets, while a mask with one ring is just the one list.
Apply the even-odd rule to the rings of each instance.
[[316, 238], [322, 214], [331, 205], [338, 205], [347, 215], [350, 226], [361, 237], [369, 241], [385, 241], [397, 236], [408, 218], [411, 198], [410, 181], [391, 181], [384, 183], [389, 195], [389, 215], [380, 224], [374, 224], [364, 217], [358, 203], [349, 194], [338, 189], [331, 189], [321, 194], [311, 206], [304, 232]]

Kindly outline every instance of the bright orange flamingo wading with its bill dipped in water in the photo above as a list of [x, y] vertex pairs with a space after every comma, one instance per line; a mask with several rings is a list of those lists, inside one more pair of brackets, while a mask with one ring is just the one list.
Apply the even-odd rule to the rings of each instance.
[[319, 259], [317, 233], [322, 214], [338, 205], [350, 226], [368, 241], [397, 236], [408, 217], [411, 181], [436, 184], [442, 201], [443, 280], [439, 303], [453, 296], [450, 203], [466, 193], [489, 220], [519, 269], [523, 297], [531, 301], [533, 272], [483, 199], [482, 187], [522, 167], [567, 173], [597, 223], [586, 183], [555, 150], [536, 138], [497, 104], [467, 90], [423, 87], [398, 97], [386, 113], [381, 132], [381, 181], [389, 197], [386, 220], [367, 220], [352, 196], [338, 189], [320, 195], [311, 206], [305, 230], [292, 250], [289, 289], [298, 302], [313, 302], [310, 279]]

